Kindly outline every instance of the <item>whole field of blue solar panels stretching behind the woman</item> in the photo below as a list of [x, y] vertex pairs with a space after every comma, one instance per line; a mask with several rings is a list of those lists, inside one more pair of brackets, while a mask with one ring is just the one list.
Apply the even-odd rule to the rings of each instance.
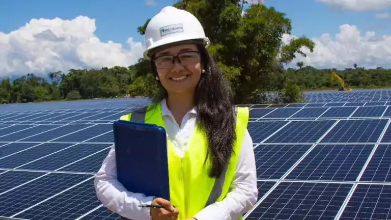
[[[390, 91], [248, 105], [259, 196], [244, 219], [391, 218]], [[113, 121], [148, 102], [63, 103], [0, 106], [0, 217], [119, 217], [97, 200], [94, 174], [113, 144]]]

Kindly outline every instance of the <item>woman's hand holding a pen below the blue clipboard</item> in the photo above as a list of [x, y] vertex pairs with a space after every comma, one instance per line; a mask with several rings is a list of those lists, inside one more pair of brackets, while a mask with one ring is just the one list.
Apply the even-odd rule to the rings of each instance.
[[161, 205], [164, 208], [152, 208], [151, 217], [152, 220], [172, 220], [178, 218], [178, 209], [174, 208], [170, 201], [162, 198], [155, 198], [152, 200], [152, 205]]

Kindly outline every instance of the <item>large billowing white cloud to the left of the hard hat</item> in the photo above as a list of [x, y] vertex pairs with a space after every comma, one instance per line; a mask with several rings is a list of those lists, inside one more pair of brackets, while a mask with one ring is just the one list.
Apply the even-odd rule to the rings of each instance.
[[101, 42], [95, 36], [95, 19], [32, 19], [11, 33], [0, 32], [0, 76], [46, 74], [71, 68], [129, 66], [142, 57], [143, 45], [127, 40]]

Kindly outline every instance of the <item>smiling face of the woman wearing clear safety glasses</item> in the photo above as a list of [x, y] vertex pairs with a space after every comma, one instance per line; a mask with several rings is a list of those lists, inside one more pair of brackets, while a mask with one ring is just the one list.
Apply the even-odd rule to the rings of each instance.
[[154, 61], [167, 93], [194, 93], [201, 77], [201, 55], [195, 44], [176, 45], [158, 51]]

